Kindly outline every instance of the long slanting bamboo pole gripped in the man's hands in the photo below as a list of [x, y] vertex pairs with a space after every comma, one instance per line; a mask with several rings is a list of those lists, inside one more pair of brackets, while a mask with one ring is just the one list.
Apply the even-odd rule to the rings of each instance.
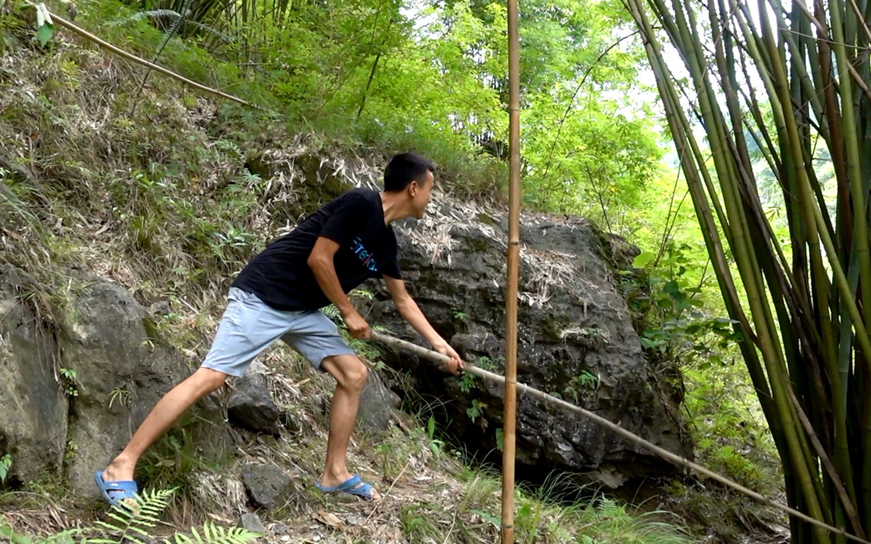
[[[450, 358], [446, 355], [442, 355], [442, 353], [437, 353], [437, 352], [429, 350], [425, 347], [417, 346], [416, 344], [412, 344], [411, 342], [408, 342], [407, 340], [394, 338], [392, 336], [389, 336], [388, 334], [384, 334], [383, 332], [373, 331], [372, 332], [372, 339], [375, 341], [381, 342], [383, 344], [386, 344], [388, 346], [393, 346], [396, 348], [404, 349], [410, 353], [414, 353], [415, 355], [417, 355], [419, 357], [429, 359], [429, 360], [435, 362], [438, 366], [440, 366], [442, 368], [447, 366], [447, 364], [450, 361]], [[491, 373], [489, 371], [484, 370], [483, 368], [478, 368], [477, 366], [472, 366], [469, 363], [463, 364], [463, 372], [470, 373], [470, 374], [475, 375], [481, 379], [487, 379], [487, 380], [496, 382], [498, 384], [502, 384], [503, 386], [507, 385], [506, 379], [503, 378], [503, 376], [500, 376], [499, 374], [496, 374], [496, 373]], [[548, 403], [555, 405], [555, 406], [559, 406], [559, 407], [564, 408], [565, 410], [568, 410], [570, 412], [578, 413], [578, 414], [584, 416], [584, 418], [587, 418], [588, 420], [593, 420], [596, 423], [598, 423], [599, 425], [604, 426], [608, 430], [610, 430], [614, 433], [618, 433], [620, 436], [624, 437], [625, 439], [630, 440], [632, 442], [635, 442], [636, 444], [639, 444], [641, 446], [644, 446], [645, 448], [647, 448], [648, 450], [650, 450], [653, 453], [656, 453], [658, 456], [662, 457], [663, 459], [671, 461], [672, 463], [675, 463], [676, 465], [679, 465], [682, 467], [687, 467], [687, 468], [691, 469], [693, 472], [698, 473], [699, 475], [704, 476], [706, 478], [710, 478], [712, 480], [717, 480], [717, 481], [719, 481], [719, 483], [725, 485], [726, 487], [733, 488], [735, 491], [738, 491], [740, 494], [745, 494], [746, 496], [752, 497], [755, 500], [759, 500], [760, 502], [763, 502], [770, 507], [777, 508], [779, 510], [782, 510], [783, 512], [786, 512], [787, 514], [791, 514], [795, 517], [798, 517], [802, 520], [807, 521], [808, 523], [812, 523], [816, 527], [821, 527], [821, 528], [824, 528], [827, 531], [830, 531], [834, 534], [840, 534], [842, 536], [845, 536], [847, 539], [849, 539], [851, 541], [863, 542], [864, 544], [871, 544], [871, 542], [868, 542], [868, 541], [866, 541], [858, 536], [854, 536], [853, 534], [847, 534], [847, 532], [842, 530], [842, 529], [839, 529], [837, 527], [832, 527], [831, 525], [828, 525], [827, 523], [824, 523], [820, 520], [814, 520], [814, 518], [812, 518], [811, 516], [804, 514], [803, 512], [799, 512], [795, 508], [788, 507], [787, 505], [785, 505], [781, 502], [778, 502], [777, 500], [769, 499], [765, 495], [759, 494], [759, 493], [753, 491], [752, 489], [748, 489], [747, 487], [744, 487], [744, 486], [740, 485], [739, 483], [734, 482], [733, 480], [729, 480], [725, 476], [721, 476], [718, 473], [712, 472], [711, 470], [708, 470], [707, 468], [702, 467], [701, 465], [697, 465], [696, 463], [693, 463], [691, 460], [687, 460], [684, 457], [681, 457], [677, 453], [672, 453], [672, 452], [668, 451], [667, 449], [665, 449], [664, 447], [658, 447], [656, 444], [653, 444], [651, 441], [645, 440], [645, 439], [641, 438], [640, 436], [638, 436], [637, 434], [631, 433], [630, 431], [627, 431], [625, 428], [623, 428], [622, 426], [618, 426], [616, 423], [611, 423], [611, 421], [604, 419], [602, 416], [600, 416], [596, 413], [592, 413], [589, 410], [584, 410], [584, 408], [582, 408], [580, 406], [575, 406], [569, 402], [566, 402], [565, 400], [557, 399], [557, 397], [551, 396], [548, 393], [544, 393], [543, 391], [539, 391], [539, 390], [537, 390], [533, 387], [527, 386], [525, 384], [516, 383], [515, 385], [517, 386], [517, 391], [519, 391], [520, 393], [528, 394], [532, 397], [536, 397], [537, 399], [544, 400], [545, 402], [548, 402]]]

